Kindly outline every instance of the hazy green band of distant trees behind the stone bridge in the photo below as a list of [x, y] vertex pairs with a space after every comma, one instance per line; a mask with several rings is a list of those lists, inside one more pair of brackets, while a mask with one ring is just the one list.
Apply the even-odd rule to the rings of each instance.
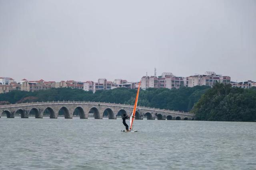
[[[182, 87], [172, 90], [167, 88], [140, 90], [138, 106], [189, 111], [208, 88], [207, 86], [195, 86], [193, 88]], [[0, 101], [8, 101], [14, 104], [20, 102], [74, 100], [134, 105], [136, 92], [137, 90], [135, 89], [116, 88], [113, 90], [99, 90], [93, 94], [92, 92], [78, 89], [52, 88], [36, 92], [12, 91], [0, 94]]]

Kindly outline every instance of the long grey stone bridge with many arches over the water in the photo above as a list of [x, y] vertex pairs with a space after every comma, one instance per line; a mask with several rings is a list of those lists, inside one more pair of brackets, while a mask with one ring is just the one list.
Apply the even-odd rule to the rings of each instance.
[[[4, 114], [8, 118], [14, 118], [14, 116], [21, 118], [28, 118], [29, 116], [58, 118], [64, 116], [66, 119], [72, 119], [74, 116], [79, 116], [80, 119], [87, 119], [88, 117], [116, 119], [122, 117], [124, 113], [131, 114], [133, 107], [126, 104], [101, 102], [36, 102], [2, 105], [0, 106], [0, 117]], [[149, 120], [194, 120], [192, 113], [142, 106], [137, 107], [135, 117], [136, 119], [147, 118]]]

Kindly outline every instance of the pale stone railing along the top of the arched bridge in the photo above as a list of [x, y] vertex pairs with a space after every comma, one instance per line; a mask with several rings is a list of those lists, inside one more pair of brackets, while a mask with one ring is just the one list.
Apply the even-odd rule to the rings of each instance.
[[[31, 102], [31, 103], [21, 103], [21, 104], [10, 104], [10, 105], [1, 105], [0, 109], [4, 108], [13, 108], [13, 107], [24, 107], [24, 106], [40, 106], [40, 105], [60, 105], [60, 104], [88, 104], [88, 105], [102, 105], [102, 106], [116, 106], [116, 107], [126, 107], [126, 108], [133, 108], [132, 105], [127, 104], [115, 104], [115, 103], [105, 103], [105, 102], [80, 102], [80, 101], [58, 101], [58, 102]], [[172, 113], [172, 114], [179, 114], [179, 115], [190, 115], [193, 116], [193, 113], [184, 112], [184, 111], [174, 111], [174, 110], [167, 110], [167, 109], [160, 109], [160, 108], [152, 108], [152, 107], [144, 107], [144, 106], [137, 106], [138, 109], [148, 110], [148, 111], [156, 111], [156, 112], [164, 112], [164, 113]]]

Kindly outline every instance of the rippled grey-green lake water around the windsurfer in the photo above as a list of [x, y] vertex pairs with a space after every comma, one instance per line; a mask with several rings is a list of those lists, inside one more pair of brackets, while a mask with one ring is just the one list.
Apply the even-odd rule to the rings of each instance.
[[0, 169], [256, 169], [256, 123], [0, 118]]

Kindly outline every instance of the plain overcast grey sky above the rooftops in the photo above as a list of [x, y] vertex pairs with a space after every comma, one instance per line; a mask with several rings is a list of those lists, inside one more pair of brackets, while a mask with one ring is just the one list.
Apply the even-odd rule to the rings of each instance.
[[0, 76], [256, 81], [256, 0], [0, 0]]

